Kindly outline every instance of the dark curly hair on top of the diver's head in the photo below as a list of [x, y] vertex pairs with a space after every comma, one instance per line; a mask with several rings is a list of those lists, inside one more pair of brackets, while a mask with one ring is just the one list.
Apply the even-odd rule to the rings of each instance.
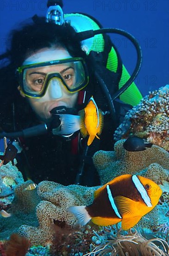
[[17, 68], [27, 57], [45, 47], [64, 47], [72, 57], [85, 58], [86, 54], [81, 50], [81, 42], [75, 39], [75, 34], [69, 23], [59, 26], [46, 23], [44, 17], [34, 17], [33, 24], [12, 32], [9, 59]]

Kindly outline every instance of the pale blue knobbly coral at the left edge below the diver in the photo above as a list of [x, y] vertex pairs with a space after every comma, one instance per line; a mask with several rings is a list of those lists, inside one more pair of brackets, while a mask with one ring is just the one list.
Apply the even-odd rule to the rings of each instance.
[[[17, 164], [14, 159], [14, 164]], [[11, 162], [0, 167], [0, 205], [3, 209], [13, 202], [14, 189], [24, 182], [21, 172]]]

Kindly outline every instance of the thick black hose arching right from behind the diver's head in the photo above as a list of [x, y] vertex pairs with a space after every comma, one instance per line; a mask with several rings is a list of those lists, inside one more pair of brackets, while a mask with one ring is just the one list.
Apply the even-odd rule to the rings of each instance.
[[140, 67], [141, 67], [141, 63], [142, 63], [142, 51], [141, 51], [138, 41], [130, 33], [126, 32], [122, 29], [118, 29], [118, 28], [101, 28], [98, 30], [83, 31], [83, 32], [77, 33], [76, 38], [77, 38], [77, 40], [82, 41], [82, 40], [86, 40], [88, 38], [94, 37], [94, 35], [96, 35], [96, 34], [105, 34], [105, 33], [113, 33], [113, 34], [119, 34], [119, 35], [125, 36], [133, 43], [133, 45], [135, 46], [136, 51], [137, 51], [137, 63], [136, 63], [136, 67], [134, 68], [133, 73], [131, 74], [130, 78], [126, 81], [126, 83], [123, 85], [123, 87], [120, 88], [115, 94], [110, 96], [111, 100], [110, 99], [108, 100], [108, 101], [114, 101], [116, 98], [119, 97], [119, 95], [124, 93], [125, 90], [136, 79], [138, 72], [140, 70]]

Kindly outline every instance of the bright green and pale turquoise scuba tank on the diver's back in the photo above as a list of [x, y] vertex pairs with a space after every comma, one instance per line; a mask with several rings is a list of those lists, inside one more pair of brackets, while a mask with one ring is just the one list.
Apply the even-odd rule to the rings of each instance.
[[[89, 30], [98, 30], [101, 28], [101, 25], [94, 18], [87, 16], [82, 13], [70, 13], [64, 14], [64, 19], [66, 22], [69, 22], [72, 27], [74, 27], [77, 33], [89, 31]], [[113, 45], [111, 40], [107, 40], [104, 34], [96, 34], [94, 37], [88, 38], [81, 41], [82, 50], [89, 55], [92, 51], [97, 54], [104, 54], [105, 59], [103, 62], [99, 63], [100, 66], [106, 65], [106, 68], [115, 74], [118, 72], [118, 67], [121, 64], [121, 76], [119, 79], [118, 89], [122, 88], [126, 80], [130, 78], [130, 74], [127, 72], [125, 66], [119, 58], [116, 47]], [[133, 97], [134, 95], [134, 97]], [[130, 87], [125, 90], [119, 96], [119, 99], [126, 104], [135, 106], [142, 99], [142, 94], [137, 88], [134, 82], [131, 83]]]

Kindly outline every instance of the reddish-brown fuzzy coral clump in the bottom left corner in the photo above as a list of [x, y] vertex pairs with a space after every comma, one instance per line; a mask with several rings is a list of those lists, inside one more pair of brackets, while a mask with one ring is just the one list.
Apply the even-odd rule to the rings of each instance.
[[7, 256], [25, 256], [30, 242], [18, 234], [12, 234], [10, 239], [6, 242], [5, 252]]

